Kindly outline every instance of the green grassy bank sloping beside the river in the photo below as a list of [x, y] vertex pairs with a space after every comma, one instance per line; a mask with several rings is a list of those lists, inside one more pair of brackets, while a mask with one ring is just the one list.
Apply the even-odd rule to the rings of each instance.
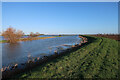
[[[88, 44], [14, 78], [117, 78], [118, 41], [89, 37]], [[119, 51], [120, 53], [120, 51]]]

